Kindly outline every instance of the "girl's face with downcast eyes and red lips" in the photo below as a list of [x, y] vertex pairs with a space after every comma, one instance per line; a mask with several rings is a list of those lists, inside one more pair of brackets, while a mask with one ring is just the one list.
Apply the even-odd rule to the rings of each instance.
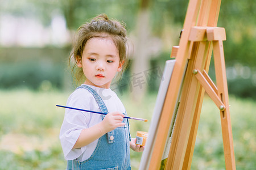
[[115, 74], [122, 70], [122, 64], [113, 40], [108, 37], [89, 39], [82, 59], [77, 62], [86, 77], [85, 84], [101, 88], [110, 88]]

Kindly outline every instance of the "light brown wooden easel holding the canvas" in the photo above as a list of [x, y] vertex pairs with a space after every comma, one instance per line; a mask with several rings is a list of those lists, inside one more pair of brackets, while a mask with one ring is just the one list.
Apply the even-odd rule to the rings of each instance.
[[[205, 91], [220, 109], [226, 169], [236, 169], [222, 45], [226, 35], [224, 28], [216, 27], [220, 4], [221, 0], [189, 1], [179, 46], [172, 49], [171, 57], [176, 57], [176, 63], [148, 169], [155, 170], [160, 166], [161, 169], [190, 169]], [[217, 87], [208, 76], [212, 50]], [[166, 164], [160, 165], [166, 150], [168, 127], [175, 112], [177, 116], [168, 158]]]

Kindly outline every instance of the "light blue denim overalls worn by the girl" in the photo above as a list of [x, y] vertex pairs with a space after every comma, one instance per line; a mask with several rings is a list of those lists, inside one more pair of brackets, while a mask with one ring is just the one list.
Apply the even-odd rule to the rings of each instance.
[[[82, 85], [96, 99], [101, 112], [108, 113], [108, 109], [101, 97], [92, 88]], [[125, 113], [125, 116], [126, 113]], [[102, 115], [102, 120], [105, 115]], [[118, 127], [98, 139], [97, 146], [89, 159], [84, 162], [68, 160], [67, 169], [131, 169], [130, 166], [130, 130], [129, 121], [123, 119], [125, 126]]]

